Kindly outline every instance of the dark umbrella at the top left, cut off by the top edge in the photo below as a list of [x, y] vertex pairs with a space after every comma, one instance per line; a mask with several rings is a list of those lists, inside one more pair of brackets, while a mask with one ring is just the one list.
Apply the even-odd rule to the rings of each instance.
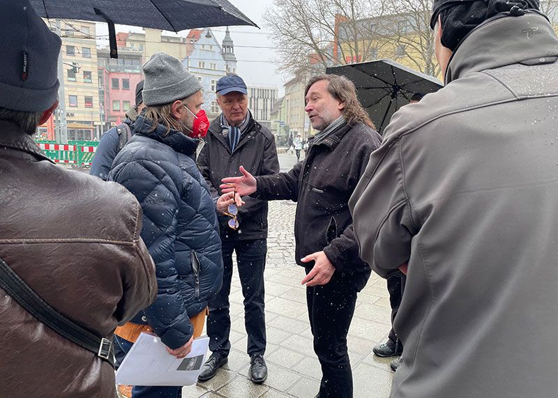
[[118, 57], [114, 24], [165, 31], [257, 25], [227, 0], [30, 0], [40, 17], [109, 24], [110, 56]]

